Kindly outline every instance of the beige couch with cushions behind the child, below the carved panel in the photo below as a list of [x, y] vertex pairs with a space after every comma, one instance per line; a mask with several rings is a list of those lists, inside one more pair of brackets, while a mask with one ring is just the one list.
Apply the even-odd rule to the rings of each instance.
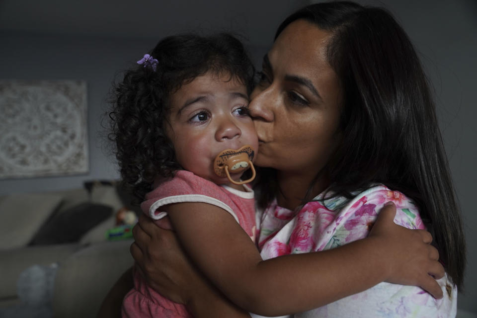
[[[95, 317], [110, 287], [133, 264], [132, 239], [113, 241], [105, 235], [115, 227], [115, 212], [128, 206], [128, 200], [115, 185], [95, 183], [90, 188], [90, 193], [76, 189], [0, 197], [0, 317]], [[100, 222], [92, 211], [75, 210], [97, 205], [103, 208]], [[105, 206], [111, 211], [107, 217]], [[38, 238], [39, 229], [56, 224], [53, 220], [59, 216], [72, 216], [63, 235], [79, 239], [45, 244], [45, 238]], [[73, 233], [81, 220], [94, 226]], [[61, 231], [56, 230], [58, 237]]]

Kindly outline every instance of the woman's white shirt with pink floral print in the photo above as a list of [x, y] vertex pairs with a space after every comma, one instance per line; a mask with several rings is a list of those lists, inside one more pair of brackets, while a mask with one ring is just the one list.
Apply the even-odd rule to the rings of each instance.
[[[398, 191], [377, 185], [353, 199], [323, 194], [296, 214], [278, 207], [276, 201], [257, 213], [258, 246], [263, 259], [285, 254], [306, 253], [341, 246], [365, 238], [384, 204], [397, 206], [395, 223], [409, 229], [425, 229], [412, 201]], [[285, 317], [455, 317], [457, 289], [447, 276], [440, 279], [444, 298], [434, 299], [419, 287], [380, 283], [364, 292], [305, 313]], [[257, 316], [254, 316], [257, 317]]]

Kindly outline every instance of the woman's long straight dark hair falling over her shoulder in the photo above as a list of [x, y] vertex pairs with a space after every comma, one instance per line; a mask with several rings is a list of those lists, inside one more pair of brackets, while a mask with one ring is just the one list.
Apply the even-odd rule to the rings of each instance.
[[283, 21], [275, 39], [298, 19], [332, 33], [327, 60], [343, 93], [343, 140], [320, 172], [329, 175], [328, 190], [351, 197], [383, 183], [413, 199], [461, 290], [462, 220], [428, 80], [409, 38], [385, 9], [342, 1], [300, 9]]

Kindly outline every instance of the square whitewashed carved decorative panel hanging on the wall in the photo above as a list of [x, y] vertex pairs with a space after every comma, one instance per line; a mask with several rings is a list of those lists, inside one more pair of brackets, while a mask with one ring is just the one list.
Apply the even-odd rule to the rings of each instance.
[[0, 80], [0, 178], [88, 172], [86, 82]]

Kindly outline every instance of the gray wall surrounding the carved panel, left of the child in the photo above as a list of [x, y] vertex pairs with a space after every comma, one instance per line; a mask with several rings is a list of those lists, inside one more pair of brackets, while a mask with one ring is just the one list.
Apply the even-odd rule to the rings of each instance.
[[[87, 82], [89, 173], [78, 176], [0, 181], [0, 195], [82, 187], [83, 180], [118, 178], [100, 138], [105, 98], [126, 61], [145, 52], [151, 41], [0, 34], [2, 79], [82, 79]], [[140, 56], [140, 54], [139, 54]]]

